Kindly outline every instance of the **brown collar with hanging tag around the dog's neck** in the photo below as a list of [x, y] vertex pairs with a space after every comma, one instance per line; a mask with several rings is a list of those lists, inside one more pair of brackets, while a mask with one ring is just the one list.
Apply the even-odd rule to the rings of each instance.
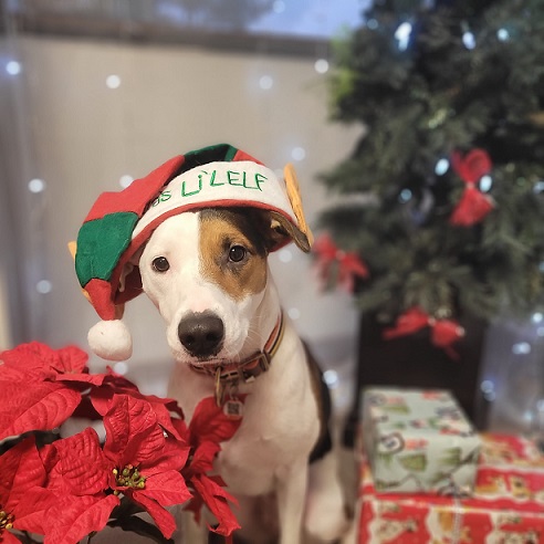
[[280, 312], [275, 326], [262, 352], [258, 352], [251, 357], [237, 363], [220, 363], [207, 366], [191, 365], [195, 372], [213, 376], [216, 379], [216, 402], [218, 406], [224, 405], [227, 389], [232, 396], [240, 384], [250, 384], [270, 368], [272, 357], [282, 342], [284, 328], [283, 312]]

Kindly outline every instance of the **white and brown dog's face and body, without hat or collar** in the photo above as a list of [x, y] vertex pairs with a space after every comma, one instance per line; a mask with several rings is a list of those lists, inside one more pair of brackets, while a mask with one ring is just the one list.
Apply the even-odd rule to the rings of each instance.
[[189, 419], [203, 397], [218, 394], [218, 369], [260, 355], [281, 321], [270, 366], [237, 380], [237, 393], [248, 395], [242, 422], [223, 444], [217, 471], [247, 509], [241, 520], [254, 517], [248, 499], [274, 493], [281, 544], [302, 542], [303, 517], [306, 532], [332, 542], [345, 521], [326, 420], [329, 400], [315, 363], [282, 313], [268, 265], [270, 248], [285, 237], [308, 249], [304, 234], [273, 212], [189, 211], [155, 230], [138, 266], [176, 359], [168, 395]]

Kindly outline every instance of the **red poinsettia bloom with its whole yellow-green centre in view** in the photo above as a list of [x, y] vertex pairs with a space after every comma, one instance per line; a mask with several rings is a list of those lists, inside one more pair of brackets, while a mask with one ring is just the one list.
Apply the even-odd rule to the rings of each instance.
[[128, 395], [113, 398], [104, 426], [109, 488], [146, 509], [169, 538], [176, 522], [165, 506], [191, 498], [179, 472], [189, 456], [188, 444], [165, 436], [149, 402]]

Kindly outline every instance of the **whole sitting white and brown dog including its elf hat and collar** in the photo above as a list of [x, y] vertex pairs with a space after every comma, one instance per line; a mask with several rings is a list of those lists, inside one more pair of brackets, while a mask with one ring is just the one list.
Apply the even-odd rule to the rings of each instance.
[[[168, 395], [186, 418], [210, 396], [241, 418], [216, 469], [240, 502], [240, 535], [251, 544], [270, 541], [272, 511], [281, 544], [300, 544], [303, 532], [332, 542], [345, 525], [328, 391], [282, 312], [268, 262], [291, 241], [310, 251], [292, 167], [281, 179], [219, 144], [102, 193], [75, 252], [80, 284], [102, 318], [88, 333], [92, 351], [130, 356], [121, 317], [144, 292], [166, 323], [176, 362]], [[257, 522], [258, 510], [265, 515]], [[198, 538], [206, 542], [203, 534], [189, 542]]]

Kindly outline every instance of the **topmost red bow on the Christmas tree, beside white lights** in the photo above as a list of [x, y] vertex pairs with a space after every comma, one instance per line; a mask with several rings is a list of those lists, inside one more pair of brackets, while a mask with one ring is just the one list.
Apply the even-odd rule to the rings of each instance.
[[475, 185], [482, 176], [491, 171], [493, 164], [484, 149], [473, 149], [464, 157], [459, 151], [453, 151], [451, 165], [465, 187], [450, 217], [450, 223], [470, 227], [480, 222], [494, 207], [493, 199], [481, 192]]

